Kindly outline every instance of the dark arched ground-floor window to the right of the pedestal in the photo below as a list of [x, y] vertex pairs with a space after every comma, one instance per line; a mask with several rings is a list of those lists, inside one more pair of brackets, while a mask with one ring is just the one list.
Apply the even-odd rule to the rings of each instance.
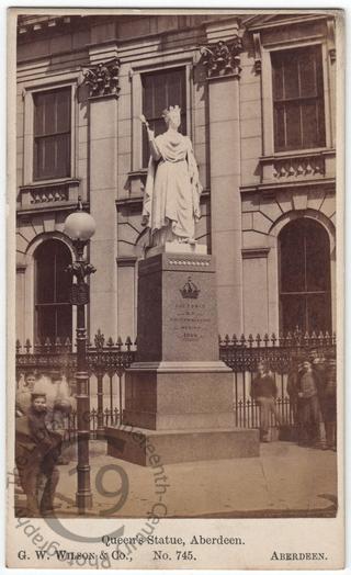
[[280, 329], [331, 330], [330, 246], [325, 228], [308, 217], [279, 235]]

